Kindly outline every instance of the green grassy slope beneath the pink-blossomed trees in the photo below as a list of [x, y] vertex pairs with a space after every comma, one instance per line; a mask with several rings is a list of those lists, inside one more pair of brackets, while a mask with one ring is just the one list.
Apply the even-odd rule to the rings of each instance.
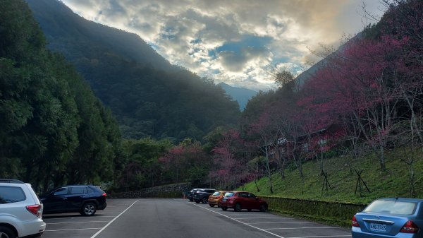
[[[309, 161], [303, 164], [304, 180], [300, 178], [298, 169], [289, 165], [286, 169], [285, 179], [281, 174], [274, 173], [272, 176], [274, 194], [270, 193], [268, 179], [262, 178], [257, 182], [260, 191], [257, 192], [255, 183], [245, 184], [239, 189], [246, 189], [258, 196], [278, 196], [284, 198], [299, 198], [318, 201], [339, 201], [347, 203], [367, 204], [376, 198], [383, 197], [410, 197], [410, 170], [399, 158], [405, 155], [404, 151], [396, 150], [386, 153], [386, 171], [381, 172], [379, 160], [374, 154], [353, 160], [351, 157], [333, 157], [324, 161], [324, 169], [328, 173], [329, 183], [332, 189], [322, 191], [324, 177], [319, 176], [319, 164]], [[423, 198], [423, 153], [416, 156], [415, 191], [417, 198]], [[349, 166], [349, 165], [350, 166]], [[370, 189], [370, 193], [362, 185], [362, 194], [359, 189], [355, 194], [357, 184], [357, 171], [362, 171], [362, 178]]]

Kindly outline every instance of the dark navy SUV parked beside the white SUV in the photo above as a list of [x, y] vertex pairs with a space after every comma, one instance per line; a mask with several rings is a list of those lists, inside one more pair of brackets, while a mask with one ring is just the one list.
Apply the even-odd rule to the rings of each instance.
[[44, 213], [81, 213], [94, 215], [106, 208], [106, 193], [93, 185], [61, 186], [40, 197]]

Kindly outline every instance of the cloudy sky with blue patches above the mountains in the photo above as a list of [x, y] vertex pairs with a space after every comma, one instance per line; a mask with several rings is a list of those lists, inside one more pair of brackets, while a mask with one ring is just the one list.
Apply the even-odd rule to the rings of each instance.
[[62, 0], [97, 23], [133, 32], [161, 56], [252, 90], [276, 88], [271, 74], [301, 73], [321, 44], [337, 46], [381, 16], [379, 0]]

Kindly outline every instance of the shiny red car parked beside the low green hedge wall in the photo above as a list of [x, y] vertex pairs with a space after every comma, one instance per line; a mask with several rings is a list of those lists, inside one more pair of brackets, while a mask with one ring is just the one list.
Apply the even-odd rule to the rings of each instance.
[[242, 209], [256, 209], [265, 212], [267, 210], [267, 203], [266, 201], [257, 198], [257, 196], [247, 191], [228, 191], [221, 199], [220, 207], [222, 210], [233, 208], [235, 212]]

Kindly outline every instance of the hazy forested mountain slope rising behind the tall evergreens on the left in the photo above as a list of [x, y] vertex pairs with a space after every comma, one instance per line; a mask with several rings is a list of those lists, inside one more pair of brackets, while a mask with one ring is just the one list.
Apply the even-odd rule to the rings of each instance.
[[127, 138], [191, 137], [235, 124], [237, 102], [207, 78], [171, 66], [137, 35], [92, 23], [60, 1], [27, 0], [47, 35], [111, 107]]

